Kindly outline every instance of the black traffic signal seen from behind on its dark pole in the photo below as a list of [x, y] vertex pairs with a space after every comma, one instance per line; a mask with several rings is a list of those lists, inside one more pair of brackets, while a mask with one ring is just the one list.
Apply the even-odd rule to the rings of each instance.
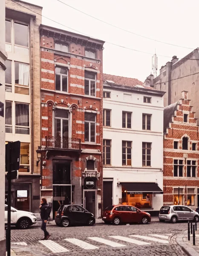
[[11, 237], [11, 180], [18, 178], [20, 166], [20, 141], [6, 144], [6, 172], [8, 180], [8, 223], [6, 228], [6, 249], [7, 256], [10, 256]]

